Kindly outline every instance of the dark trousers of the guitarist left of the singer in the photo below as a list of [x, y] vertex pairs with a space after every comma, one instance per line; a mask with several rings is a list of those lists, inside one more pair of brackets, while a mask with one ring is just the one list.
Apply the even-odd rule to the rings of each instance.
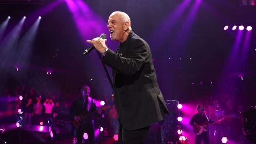
[[76, 130], [76, 140], [77, 140], [76, 144], [82, 144], [84, 132], [87, 133], [90, 144], [95, 144], [94, 125], [92, 123], [81, 125]]

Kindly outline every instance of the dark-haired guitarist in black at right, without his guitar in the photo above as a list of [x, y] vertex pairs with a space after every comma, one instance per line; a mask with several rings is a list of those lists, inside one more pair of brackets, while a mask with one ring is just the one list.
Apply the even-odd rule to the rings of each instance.
[[[205, 123], [206, 130], [208, 130], [208, 123], [213, 123], [213, 121], [211, 121], [211, 119], [208, 118], [208, 116], [206, 116], [206, 114], [204, 112], [204, 105], [199, 104], [197, 106], [197, 111], [198, 111], [198, 113], [194, 114], [194, 116], [191, 118], [190, 125], [192, 125], [194, 127], [193, 129], [199, 130], [200, 126], [204, 125], [203, 123]], [[195, 144], [201, 144], [202, 140], [204, 141], [204, 144], [209, 144], [209, 132], [208, 131], [202, 132], [199, 135], [196, 134]]]

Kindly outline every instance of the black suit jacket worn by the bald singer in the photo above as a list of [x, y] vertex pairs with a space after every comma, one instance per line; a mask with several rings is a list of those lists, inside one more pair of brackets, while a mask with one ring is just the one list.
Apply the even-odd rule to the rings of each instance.
[[170, 114], [159, 89], [150, 47], [132, 31], [102, 62], [113, 68], [114, 101], [126, 130], [146, 127]]

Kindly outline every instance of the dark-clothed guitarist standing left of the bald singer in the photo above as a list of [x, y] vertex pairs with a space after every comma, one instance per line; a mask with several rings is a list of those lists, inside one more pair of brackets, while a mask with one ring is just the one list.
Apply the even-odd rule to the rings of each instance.
[[[76, 98], [69, 108], [70, 116], [74, 121], [79, 123], [77, 128], [75, 128], [75, 137], [77, 139], [76, 144], [82, 144], [83, 133], [85, 131], [88, 134], [90, 144], [95, 144], [93, 115], [86, 117], [85, 120], [81, 116], [86, 116], [86, 114], [97, 111], [96, 103], [94, 99], [89, 97], [90, 88], [88, 85], [82, 86], [81, 93], [82, 96]], [[99, 109], [97, 113], [100, 114], [101, 109]]]

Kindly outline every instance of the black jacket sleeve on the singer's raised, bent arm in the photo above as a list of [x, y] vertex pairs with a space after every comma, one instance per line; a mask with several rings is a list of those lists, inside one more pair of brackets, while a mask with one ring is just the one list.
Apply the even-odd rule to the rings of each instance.
[[109, 49], [102, 58], [102, 63], [105, 63], [122, 74], [135, 74], [145, 63], [147, 46], [141, 39], [135, 39], [126, 49], [126, 51], [129, 51], [126, 57], [122, 57], [119, 53], [115, 53]]

